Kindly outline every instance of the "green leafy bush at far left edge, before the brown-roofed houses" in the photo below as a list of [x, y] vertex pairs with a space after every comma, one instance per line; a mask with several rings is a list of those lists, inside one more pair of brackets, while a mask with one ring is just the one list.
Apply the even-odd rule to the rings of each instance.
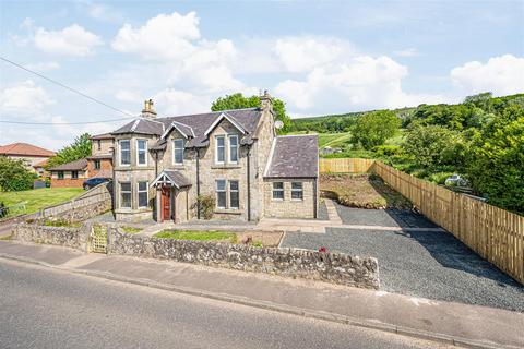
[[22, 159], [0, 157], [0, 189], [4, 192], [29, 190], [37, 178]]

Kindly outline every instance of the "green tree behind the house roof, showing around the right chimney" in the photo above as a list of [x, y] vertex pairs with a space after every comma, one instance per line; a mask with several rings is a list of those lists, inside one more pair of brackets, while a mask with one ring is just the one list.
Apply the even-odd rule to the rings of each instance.
[[[241, 93], [237, 93], [233, 95], [226, 95], [225, 97], [218, 97], [211, 105], [211, 110], [219, 111], [257, 107], [260, 107], [259, 96], [245, 97]], [[291, 125], [291, 119], [286, 115], [285, 103], [278, 98], [273, 98], [273, 111], [276, 115], [276, 120], [281, 120], [284, 123], [281, 132], [288, 131]]]

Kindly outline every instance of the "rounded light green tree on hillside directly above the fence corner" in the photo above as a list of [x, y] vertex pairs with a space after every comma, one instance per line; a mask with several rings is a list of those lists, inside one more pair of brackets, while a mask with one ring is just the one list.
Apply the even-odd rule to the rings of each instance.
[[365, 149], [371, 149], [394, 136], [401, 123], [402, 120], [390, 110], [366, 113], [353, 127], [352, 140]]

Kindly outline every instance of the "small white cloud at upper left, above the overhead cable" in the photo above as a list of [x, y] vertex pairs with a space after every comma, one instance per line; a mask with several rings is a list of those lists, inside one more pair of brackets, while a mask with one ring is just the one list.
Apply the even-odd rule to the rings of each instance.
[[36, 28], [33, 40], [36, 48], [50, 55], [83, 57], [93, 53], [96, 46], [103, 44], [99, 36], [84, 29], [78, 24], [61, 31]]

